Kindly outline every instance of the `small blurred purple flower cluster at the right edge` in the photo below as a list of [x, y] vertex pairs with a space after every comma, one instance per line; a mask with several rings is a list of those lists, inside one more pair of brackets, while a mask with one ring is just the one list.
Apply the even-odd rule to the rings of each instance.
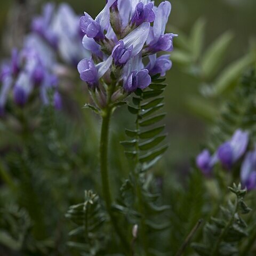
[[223, 143], [213, 155], [210, 154], [208, 149], [204, 149], [196, 158], [197, 167], [201, 169], [207, 177], [210, 177], [215, 164], [221, 163], [224, 169], [230, 171], [235, 163], [245, 155], [240, 172], [241, 181], [247, 189], [255, 189], [256, 149], [246, 153], [248, 143], [249, 134], [237, 130], [233, 137]]

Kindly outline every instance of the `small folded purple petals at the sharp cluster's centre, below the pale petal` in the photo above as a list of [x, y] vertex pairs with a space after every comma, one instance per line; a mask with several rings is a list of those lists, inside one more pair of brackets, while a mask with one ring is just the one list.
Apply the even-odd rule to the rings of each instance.
[[132, 50], [133, 45], [130, 45], [128, 49], [126, 49], [124, 46], [124, 41], [119, 40], [112, 51], [112, 57], [114, 59], [115, 65], [125, 65], [127, 61], [131, 58]]

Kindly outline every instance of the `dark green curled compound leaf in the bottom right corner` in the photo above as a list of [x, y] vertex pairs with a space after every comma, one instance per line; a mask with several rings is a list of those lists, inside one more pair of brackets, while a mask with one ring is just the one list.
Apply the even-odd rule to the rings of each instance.
[[241, 214], [247, 214], [251, 209], [244, 202], [246, 190], [241, 184], [234, 184], [229, 190], [236, 195], [235, 202], [229, 200], [226, 207], [221, 206], [220, 217], [212, 217], [204, 227], [203, 243], [192, 245], [199, 255], [239, 255], [238, 245], [248, 235]]

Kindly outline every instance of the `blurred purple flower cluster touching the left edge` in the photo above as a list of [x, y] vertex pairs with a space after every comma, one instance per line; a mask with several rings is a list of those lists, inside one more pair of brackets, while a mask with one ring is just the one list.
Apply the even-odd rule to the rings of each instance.
[[58, 78], [52, 72], [55, 58], [51, 49], [35, 35], [28, 35], [23, 49], [14, 49], [10, 61], [3, 63], [0, 71], [0, 115], [5, 114], [10, 95], [16, 105], [23, 107], [30, 95], [39, 93], [44, 104], [49, 103], [52, 89], [55, 108], [61, 108], [57, 90]]

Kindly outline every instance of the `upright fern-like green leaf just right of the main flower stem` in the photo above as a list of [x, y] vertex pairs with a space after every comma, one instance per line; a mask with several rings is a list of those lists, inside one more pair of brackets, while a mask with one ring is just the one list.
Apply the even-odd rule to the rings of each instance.
[[131, 140], [121, 141], [121, 144], [126, 156], [131, 158], [135, 171], [123, 183], [121, 197], [114, 206], [133, 227], [138, 225], [138, 238], [133, 235], [134, 250], [147, 255], [162, 255], [158, 252], [162, 248], [155, 243], [156, 237], [170, 225], [166, 218], [166, 210], [170, 207], [162, 205], [156, 183], [146, 172], [168, 148], [167, 145], [161, 146], [166, 138], [166, 134], [161, 134], [165, 126], [158, 124], [166, 115], [158, 113], [164, 107], [164, 98], [159, 97], [166, 86], [164, 80], [159, 75], [153, 77], [149, 89], [135, 91], [133, 105], [128, 106], [130, 113], [136, 117], [135, 130], [126, 129], [125, 133]]

